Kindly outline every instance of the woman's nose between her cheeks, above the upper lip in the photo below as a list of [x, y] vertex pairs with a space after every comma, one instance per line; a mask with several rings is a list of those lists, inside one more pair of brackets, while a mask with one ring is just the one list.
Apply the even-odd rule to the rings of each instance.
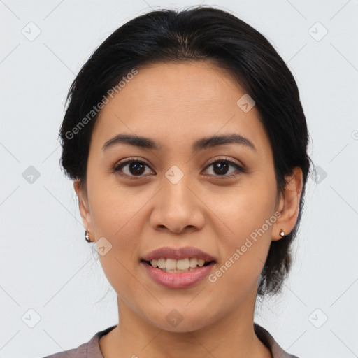
[[175, 184], [164, 178], [163, 187], [155, 196], [150, 224], [155, 230], [180, 234], [198, 231], [205, 224], [203, 202], [199, 193], [184, 176]]

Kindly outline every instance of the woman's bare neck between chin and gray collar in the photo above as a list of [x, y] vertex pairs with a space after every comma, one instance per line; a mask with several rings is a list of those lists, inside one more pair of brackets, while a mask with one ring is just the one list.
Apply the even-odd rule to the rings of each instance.
[[99, 345], [103, 358], [182, 358], [183, 352], [187, 358], [271, 358], [255, 334], [254, 310], [255, 296], [248, 297], [234, 312], [205, 327], [173, 332], [151, 324], [118, 299], [120, 324]]

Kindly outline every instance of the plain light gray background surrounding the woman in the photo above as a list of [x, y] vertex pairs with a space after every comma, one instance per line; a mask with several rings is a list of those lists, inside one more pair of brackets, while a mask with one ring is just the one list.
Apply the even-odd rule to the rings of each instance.
[[[289, 280], [257, 308], [255, 321], [300, 358], [358, 357], [358, 1], [203, 3], [261, 31], [288, 63], [319, 174], [308, 180]], [[0, 1], [0, 357], [44, 357], [117, 324], [115, 292], [83, 237], [73, 182], [59, 167], [65, 96], [124, 22], [150, 8], [198, 4]], [[40, 174], [32, 183], [29, 166]]]

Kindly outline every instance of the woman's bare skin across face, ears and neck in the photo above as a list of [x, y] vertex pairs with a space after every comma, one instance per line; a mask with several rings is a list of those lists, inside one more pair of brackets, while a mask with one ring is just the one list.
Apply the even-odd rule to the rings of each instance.
[[[112, 245], [99, 259], [117, 292], [120, 323], [99, 341], [104, 358], [181, 358], [183, 352], [188, 358], [271, 357], [253, 329], [257, 285], [271, 241], [282, 239], [280, 229], [289, 234], [296, 223], [302, 171], [295, 168], [285, 192], [277, 192], [259, 112], [254, 106], [244, 113], [236, 104], [243, 94], [230, 73], [210, 62], [150, 64], [101, 110], [86, 187], [76, 180], [74, 188], [90, 238], [104, 236]], [[101, 152], [120, 133], [152, 138], [162, 149], [120, 144]], [[231, 143], [192, 152], [197, 139], [227, 133], [250, 139], [256, 150]], [[129, 165], [113, 171], [132, 157], [148, 164], [141, 177]], [[223, 159], [246, 172], [229, 166], [227, 177], [220, 176], [211, 163]], [[176, 184], [165, 176], [173, 165], [184, 174]], [[231, 174], [238, 176], [228, 178]], [[215, 257], [215, 272], [278, 212], [280, 217], [214, 283], [206, 278], [193, 287], [168, 289], [139, 264], [163, 246], [194, 246]], [[176, 327], [166, 320], [173, 309], [182, 316]]]

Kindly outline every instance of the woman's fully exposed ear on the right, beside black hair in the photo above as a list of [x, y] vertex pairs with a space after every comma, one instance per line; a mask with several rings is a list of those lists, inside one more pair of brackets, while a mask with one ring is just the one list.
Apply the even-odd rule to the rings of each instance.
[[281, 215], [273, 224], [272, 241], [282, 238], [280, 236], [281, 229], [285, 231], [285, 235], [288, 235], [294, 229], [299, 216], [299, 202], [303, 187], [302, 169], [299, 166], [294, 167], [292, 175], [285, 178], [287, 185], [285, 192], [280, 195], [277, 209]]

